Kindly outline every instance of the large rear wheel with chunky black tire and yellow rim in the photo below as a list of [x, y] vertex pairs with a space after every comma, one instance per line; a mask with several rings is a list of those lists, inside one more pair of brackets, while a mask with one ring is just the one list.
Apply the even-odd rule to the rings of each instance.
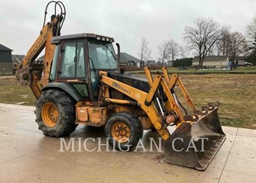
[[49, 89], [37, 100], [36, 122], [45, 136], [68, 136], [76, 130], [75, 101], [65, 92]]

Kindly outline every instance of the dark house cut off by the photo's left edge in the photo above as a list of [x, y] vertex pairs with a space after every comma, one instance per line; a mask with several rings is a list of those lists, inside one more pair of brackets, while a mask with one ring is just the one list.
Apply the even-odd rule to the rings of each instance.
[[12, 73], [11, 52], [10, 48], [0, 44], [0, 74]]

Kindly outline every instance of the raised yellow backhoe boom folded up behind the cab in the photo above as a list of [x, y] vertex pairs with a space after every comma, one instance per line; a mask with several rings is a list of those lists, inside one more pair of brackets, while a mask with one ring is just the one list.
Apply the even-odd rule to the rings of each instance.
[[[45, 11], [45, 15], [46, 14], [47, 8]], [[50, 66], [53, 61], [53, 54], [55, 50], [55, 45], [51, 44], [51, 39], [52, 37], [60, 36], [63, 14], [66, 14], [66, 12], [61, 12], [57, 15], [53, 14], [51, 16], [50, 22], [43, 26], [40, 35], [28, 50], [28, 53], [21, 61], [21, 64], [19, 66], [15, 66], [14, 68], [18, 82], [21, 85], [29, 85], [37, 99], [41, 95], [41, 88], [48, 83]], [[44, 49], [44, 61], [35, 60]], [[42, 74], [44, 75], [43, 79], [41, 80]]]

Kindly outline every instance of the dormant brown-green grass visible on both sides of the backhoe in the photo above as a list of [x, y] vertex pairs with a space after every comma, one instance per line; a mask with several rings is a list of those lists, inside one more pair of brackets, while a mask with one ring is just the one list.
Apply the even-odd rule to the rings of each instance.
[[[180, 73], [180, 77], [197, 108], [219, 101], [222, 125], [256, 129], [256, 75]], [[31, 89], [18, 85], [13, 76], [0, 77], [0, 96], [1, 103], [34, 105], [36, 102]]]

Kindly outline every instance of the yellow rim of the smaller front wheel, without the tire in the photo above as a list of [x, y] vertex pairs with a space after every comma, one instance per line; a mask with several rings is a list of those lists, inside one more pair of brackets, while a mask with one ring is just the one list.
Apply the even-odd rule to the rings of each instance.
[[131, 136], [130, 128], [124, 122], [115, 122], [112, 124], [111, 133], [114, 140], [118, 143], [128, 142]]

